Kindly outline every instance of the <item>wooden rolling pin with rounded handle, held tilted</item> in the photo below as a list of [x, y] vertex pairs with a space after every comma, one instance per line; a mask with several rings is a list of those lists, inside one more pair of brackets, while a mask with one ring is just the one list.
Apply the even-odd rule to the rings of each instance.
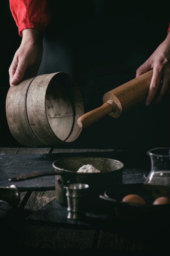
[[122, 112], [142, 103], [148, 95], [152, 74], [153, 70], [150, 70], [106, 92], [103, 96], [103, 105], [79, 117], [77, 125], [80, 128], [88, 127], [107, 114], [115, 118], [120, 117]]

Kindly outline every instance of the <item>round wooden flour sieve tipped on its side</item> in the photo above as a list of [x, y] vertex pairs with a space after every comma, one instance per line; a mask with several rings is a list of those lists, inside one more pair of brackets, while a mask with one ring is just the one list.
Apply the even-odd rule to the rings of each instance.
[[64, 72], [25, 79], [7, 93], [9, 129], [23, 146], [56, 146], [74, 141], [82, 131], [77, 118], [83, 114], [79, 88]]

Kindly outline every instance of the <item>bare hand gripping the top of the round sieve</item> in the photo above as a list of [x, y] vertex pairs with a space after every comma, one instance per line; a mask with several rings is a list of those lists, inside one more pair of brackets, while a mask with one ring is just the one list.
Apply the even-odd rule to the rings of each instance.
[[38, 29], [24, 29], [20, 47], [15, 52], [9, 67], [9, 83], [16, 85], [24, 77], [37, 75], [43, 53], [43, 33]]

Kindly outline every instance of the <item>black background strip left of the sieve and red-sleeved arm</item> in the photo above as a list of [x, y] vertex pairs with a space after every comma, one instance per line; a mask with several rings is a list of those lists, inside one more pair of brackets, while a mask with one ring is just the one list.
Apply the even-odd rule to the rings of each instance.
[[9, 131], [5, 112], [5, 100], [9, 90], [8, 69], [11, 64], [15, 50], [20, 45], [21, 38], [18, 35], [18, 28], [12, 18], [9, 9], [9, 2], [3, 1], [0, 8], [0, 26], [1, 26], [1, 67], [0, 67], [0, 146], [15, 146], [15, 141]]

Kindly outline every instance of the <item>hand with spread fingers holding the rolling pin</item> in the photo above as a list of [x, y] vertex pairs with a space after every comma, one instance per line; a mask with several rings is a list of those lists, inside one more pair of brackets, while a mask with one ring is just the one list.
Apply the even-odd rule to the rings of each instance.
[[155, 52], [136, 71], [136, 77], [153, 69], [146, 106], [159, 103], [170, 93], [170, 32]]

